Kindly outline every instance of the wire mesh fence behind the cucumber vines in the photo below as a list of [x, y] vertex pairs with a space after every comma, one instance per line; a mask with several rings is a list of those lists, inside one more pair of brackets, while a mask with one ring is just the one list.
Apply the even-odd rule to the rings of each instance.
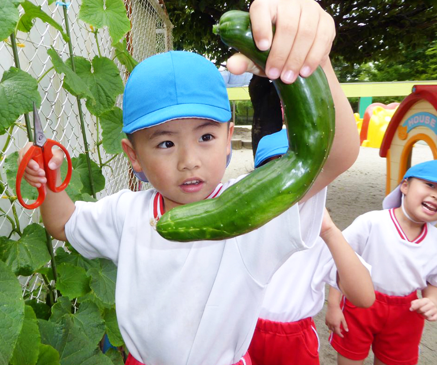
[[[172, 49], [172, 24], [158, 0], [125, 0], [125, 6], [132, 30], [127, 34], [127, 49], [138, 62], [145, 58]], [[35, 3], [49, 14], [54, 20], [62, 24], [65, 29], [63, 8], [55, 3], [49, 5], [48, 0], [36, 0]], [[82, 20], [78, 19], [80, 1], [72, 1], [68, 6], [68, 24], [75, 56], [83, 56], [92, 60], [101, 53], [113, 59], [115, 50], [111, 46], [111, 39], [107, 28], [99, 29], [97, 39], [94, 33]], [[80, 118], [76, 97], [67, 93], [62, 87], [63, 76], [52, 69], [52, 63], [47, 50], [53, 47], [65, 61], [69, 57], [68, 44], [62, 39], [61, 34], [53, 27], [36, 19], [34, 27], [29, 33], [17, 33], [18, 57], [21, 69], [27, 71], [39, 81], [38, 91], [42, 97], [39, 116], [47, 138], [62, 143], [71, 157], [77, 157], [84, 153], [84, 141], [80, 128]], [[22, 47], [24, 46], [24, 47]], [[99, 50], [98, 50], [99, 48]], [[6, 42], [0, 43], [0, 73], [16, 66], [12, 48]], [[129, 76], [128, 72], [118, 64], [120, 75], [124, 82]], [[122, 97], [118, 97], [116, 105], [121, 107]], [[110, 160], [113, 155], [107, 155], [104, 149], [97, 145], [101, 140], [101, 130], [96, 124], [96, 117], [92, 116], [85, 108], [82, 100], [84, 113], [85, 132], [89, 144], [90, 156], [94, 161]], [[32, 116], [31, 116], [32, 120]], [[17, 128], [18, 126], [18, 128]], [[0, 147], [3, 147], [3, 155], [0, 160], [0, 182], [5, 187], [1, 192], [5, 198], [6, 191], [15, 195], [15, 186], [8, 185], [4, 172], [5, 158], [13, 152], [21, 149], [28, 142], [24, 116], [21, 116], [15, 128], [0, 136]], [[100, 148], [100, 151], [98, 149]], [[105, 177], [105, 188], [97, 194], [97, 198], [112, 194], [123, 188], [144, 189], [148, 184], [137, 181], [129, 163], [123, 154], [119, 154], [104, 166], [102, 173]], [[0, 235], [9, 235], [11, 232], [10, 219], [14, 213], [19, 218], [20, 227], [31, 223], [39, 223], [39, 210], [23, 209], [18, 202], [10, 203], [8, 199], [0, 199]], [[12, 236], [13, 239], [19, 237]], [[53, 241], [53, 247], [63, 247], [64, 242]], [[23, 296], [33, 299], [43, 299], [41, 291], [43, 280], [39, 275], [21, 277]]]

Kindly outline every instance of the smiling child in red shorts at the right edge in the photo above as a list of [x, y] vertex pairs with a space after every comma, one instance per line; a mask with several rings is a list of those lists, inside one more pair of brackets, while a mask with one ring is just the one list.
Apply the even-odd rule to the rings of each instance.
[[383, 208], [343, 232], [372, 265], [376, 301], [361, 309], [344, 299], [341, 309], [331, 288], [326, 323], [339, 365], [363, 364], [370, 346], [376, 365], [417, 364], [424, 319], [437, 319], [437, 160], [409, 168]]

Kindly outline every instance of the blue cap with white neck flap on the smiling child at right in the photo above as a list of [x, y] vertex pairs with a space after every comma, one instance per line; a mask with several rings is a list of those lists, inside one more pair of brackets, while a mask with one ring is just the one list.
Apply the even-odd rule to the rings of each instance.
[[[408, 178], [418, 178], [437, 183], [437, 160], [426, 161], [411, 166], [407, 172], [405, 172], [405, 175], [403, 175], [402, 181]], [[384, 198], [383, 209], [397, 208], [401, 206], [401, 184]]]

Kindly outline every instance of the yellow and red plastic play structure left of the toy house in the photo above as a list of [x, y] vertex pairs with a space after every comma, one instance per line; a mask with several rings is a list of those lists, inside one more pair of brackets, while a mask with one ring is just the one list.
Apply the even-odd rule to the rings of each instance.
[[361, 146], [380, 148], [388, 123], [398, 106], [399, 103], [393, 102], [388, 105], [373, 103], [367, 107], [359, 129]]

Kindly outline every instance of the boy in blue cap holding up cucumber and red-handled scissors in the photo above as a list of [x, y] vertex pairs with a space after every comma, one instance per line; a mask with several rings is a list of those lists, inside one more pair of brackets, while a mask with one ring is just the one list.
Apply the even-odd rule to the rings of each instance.
[[[258, 48], [271, 47], [270, 78], [291, 83], [321, 64], [330, 83], [336, 138], [301, 204], [313, 209], [301, 214], [295, 205], [258, 230], [223, 241], [170, 242], [153, 229], [164, 212], [214, 198], [235, 183], [220, 183], [234, 128], [223, 79], [210, 61], [184, 51], [144, 60], [124, 91], [123, 131], [129, 139], [122, 146], [133, 169], [154, 188], [75, 204], [65, 191], [48, 191], [40, 207], [55, 238], [68, 240], [85, 257], [118, 265], [117, 318], [130, 365], [250, 364], [247, 349], [270, 277], [292, 253], [313, 244], [306, 231], [319, 232], [319, 190], [356, 158], [352, 109], [328, 59], [332, 18], [314, 0], [255, 0], [250, 13]], [[228, 60], [228, 69], [260, 73], [240, 54]], [[50, 168], [62, 159], [56, 152]], [[29, 163], [25, 178], [41, 186], [46, 179], [35, 164]], [[310, 223], [301, 228], [300, 221]]]

